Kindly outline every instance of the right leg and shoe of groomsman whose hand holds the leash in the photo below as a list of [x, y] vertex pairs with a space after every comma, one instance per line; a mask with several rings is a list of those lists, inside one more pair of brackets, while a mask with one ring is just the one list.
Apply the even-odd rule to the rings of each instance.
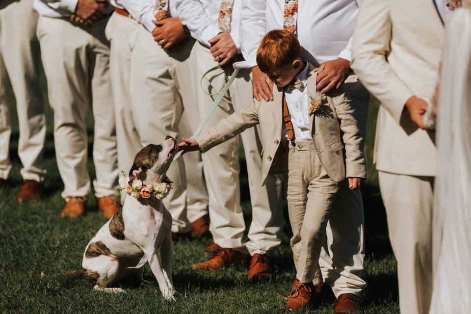
[[[253, 99], [250, 70], [239, 72], [230, 88], [230, 94], [235, 111], [241, 110]], [[254, 262], [251, 263], [254, 267], [249, 270], [249, 279], [262, 273], [269, 276], [269, 262], [264, 260], [267, 263], [263, 264], [259, 260], [255, 263], [255, 260], [260, 254], [266, 254], [281, 243], [283, 226], [281, 178], [269, 176], [266, 185], [262, 186], [262, 141], [259, 131], [257, 126], [240, 134], [244, 145], [252, 205], [249, 241], [245, 243]]]

